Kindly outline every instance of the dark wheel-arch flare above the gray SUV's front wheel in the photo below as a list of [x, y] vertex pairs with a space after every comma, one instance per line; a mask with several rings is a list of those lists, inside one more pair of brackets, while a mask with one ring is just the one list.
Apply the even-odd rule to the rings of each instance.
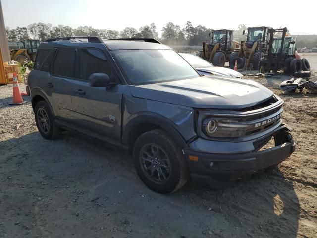
[[[133, 118], [123, 126], [122, 130], [122, 144], [129, 147], [131, 145], [131, 136], [135, 133], [136, 128], [142, 124], [153, 124], [156, 125], [167, 133], [169, 133], [175, 142], [181, 147], [186, 147], [187, 143], [184, 137], [178, 132], [176, 124], [173, 123], [170, 119], [163, 117], [162, 115], [151, 113], [151, 112], [142, 112], [137, 113], [132, 116]], [[129, 143], [130, 142], [130, 143]], [[134, 141], [133, 141], [134, 142]]]

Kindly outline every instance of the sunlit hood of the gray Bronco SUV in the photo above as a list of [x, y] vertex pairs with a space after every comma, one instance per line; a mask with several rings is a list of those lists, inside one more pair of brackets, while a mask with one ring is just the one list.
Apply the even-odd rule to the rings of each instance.
[[203, 76], [156, 84], [129, 85], [132, 96], [192, 108], [244, 108], [273, 96], [252, 80]]

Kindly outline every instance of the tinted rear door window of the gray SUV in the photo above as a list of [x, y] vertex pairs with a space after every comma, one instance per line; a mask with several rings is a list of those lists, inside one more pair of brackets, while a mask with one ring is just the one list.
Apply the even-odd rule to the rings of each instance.
[[76, 49], [61, 48], [54, 60], [53, 74], [75, 78]]

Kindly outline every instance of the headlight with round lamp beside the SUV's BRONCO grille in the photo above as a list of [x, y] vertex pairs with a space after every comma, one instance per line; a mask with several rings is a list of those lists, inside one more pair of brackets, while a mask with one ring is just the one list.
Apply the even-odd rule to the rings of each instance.
[[203, 121], [202, 129], [210, 137], [237, 138], [245, 134], [249, 128], [242, 119], [228, 118], [206, 118]]

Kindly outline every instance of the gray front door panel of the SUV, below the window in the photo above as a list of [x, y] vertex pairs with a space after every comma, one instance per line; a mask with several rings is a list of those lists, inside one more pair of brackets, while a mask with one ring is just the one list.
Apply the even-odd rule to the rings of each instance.
[[[120, 140], [122, 86], [95, 88], [87, 81], [73, 80], [73, 123]], [[79, 95], [75, 90], [85, 94]]]

